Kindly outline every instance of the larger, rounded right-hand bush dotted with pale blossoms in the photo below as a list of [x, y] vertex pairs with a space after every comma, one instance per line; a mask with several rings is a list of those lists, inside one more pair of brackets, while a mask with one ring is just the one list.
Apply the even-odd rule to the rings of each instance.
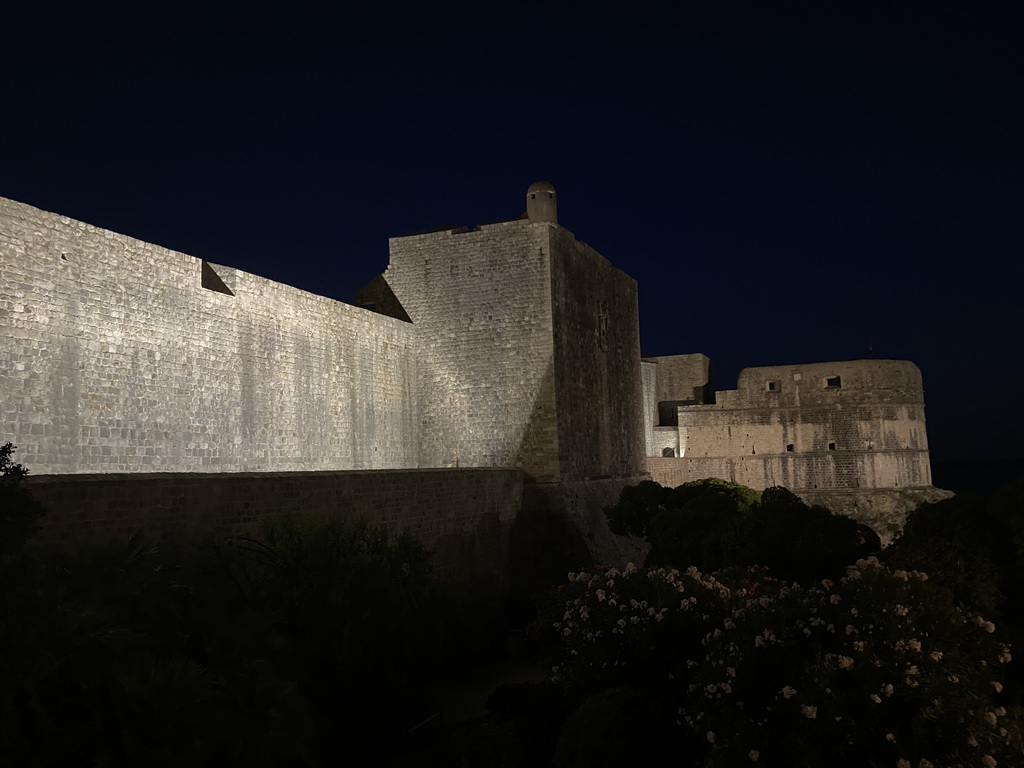
[[713, 765], [1020, 765], [994, 629], [927, 575], [861, 560], [737, 605], [705, 638], [680, 725]]

